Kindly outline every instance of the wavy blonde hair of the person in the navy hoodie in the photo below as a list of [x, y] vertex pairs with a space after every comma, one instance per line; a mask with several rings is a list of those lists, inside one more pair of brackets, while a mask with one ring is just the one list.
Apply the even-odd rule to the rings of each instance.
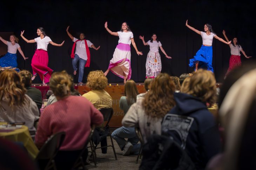
[[[186, 78], [185, 80], [187, 80]], [[183, 82], [184, 84], [184, 82]], [[190, 77], [188, 85], [184, 85], [182, 93], [198, 97], [202, 102], [210, 106], [216, 102], [216, 80], [214, 74], [204, 69], [198, 69]]]

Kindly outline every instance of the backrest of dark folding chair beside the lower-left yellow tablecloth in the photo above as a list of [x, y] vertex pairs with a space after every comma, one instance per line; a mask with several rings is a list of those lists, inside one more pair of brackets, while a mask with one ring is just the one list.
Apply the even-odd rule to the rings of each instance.
[[50, 159], [52, 160], [57, 152], [59, 151], [62, 142], [64, 141], [66, 136], [65, 132], [55, 133], [43, 144], [40, 149], [38, 155], [36, 156], [36, 160]]

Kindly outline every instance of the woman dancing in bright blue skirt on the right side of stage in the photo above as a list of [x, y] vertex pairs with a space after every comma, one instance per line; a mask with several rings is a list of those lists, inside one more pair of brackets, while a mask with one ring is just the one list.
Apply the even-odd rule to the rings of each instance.
[[230, 44], [231, 41], [226, 42], [222, 38], [218, 37], [214, 33], [213, 28], [211, 27], [210, 24], [204, 25], [204, 32], [198, 31], [197, 29], [188, 25], [188, 20], [186, 21], [186, 26], [189, 29], [195, 31], [197, 34], [201, 35], [203, 39], [203, 45], [201, 46], [200, 50], [197, 51], [193, 59], [189, 60], [189, 66], [193, 67], [195, 64], [196, 65], [195, 71], [197, 71], [198, 68], [207, 68], [207, 70], [213, 72], [213, 66], [212, 66], [213, 47], [211, 46], [213, 44], [213, 38], [216, 38], [227, 45]]

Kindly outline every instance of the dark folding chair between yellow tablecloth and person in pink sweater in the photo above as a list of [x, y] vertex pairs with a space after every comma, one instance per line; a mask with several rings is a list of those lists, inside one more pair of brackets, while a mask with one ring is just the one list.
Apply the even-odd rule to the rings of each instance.
[[[40, 163], [40, 161], [47, 161], [46, 166], [43, 168], [44, 170], [54, 169], [56, 170], [54, 158], [57, 155], [62, 142], [64, 141], [66, 136], [65, 132], [59, 132], [50, 136], [47, 141], [43, 144], [40, 149], [38, 155], [35, 158], [35, 161]], [[41, 167], [40, 167], [41, 168]]]

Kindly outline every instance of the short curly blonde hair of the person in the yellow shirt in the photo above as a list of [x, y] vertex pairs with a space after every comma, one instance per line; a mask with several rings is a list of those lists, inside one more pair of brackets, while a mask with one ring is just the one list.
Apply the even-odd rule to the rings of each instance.
[[92, 90], [105, 89], [108, 86], [108, 79], [101, 70], [91, 71], [87, 76], [86, 86]]

